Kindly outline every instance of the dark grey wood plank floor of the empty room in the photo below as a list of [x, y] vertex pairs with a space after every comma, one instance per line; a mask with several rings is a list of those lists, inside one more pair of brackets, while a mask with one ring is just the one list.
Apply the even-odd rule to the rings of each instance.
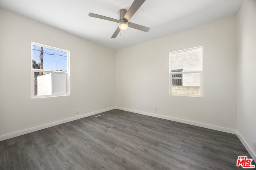
[[238, 156], [251, 158], [230, 133], [118, 109], [101, 114], [1, 141], [0, 170], [236, 170]]

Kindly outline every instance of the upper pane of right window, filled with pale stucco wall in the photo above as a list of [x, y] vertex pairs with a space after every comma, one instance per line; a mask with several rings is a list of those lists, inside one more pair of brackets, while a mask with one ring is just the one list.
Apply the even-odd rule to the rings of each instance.
[[202, 49], [171, 54], [171, 69], [186, 71], [202, 70]]

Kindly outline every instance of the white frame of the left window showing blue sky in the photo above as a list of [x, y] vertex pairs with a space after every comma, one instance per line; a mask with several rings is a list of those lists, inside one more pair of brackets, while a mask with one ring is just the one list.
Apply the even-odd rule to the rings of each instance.
[[[32, 60], [33, 60], [33, 45], [37, 45], [40, 47], [46, 47], [58, 51], [63, 51], [67, 53], [67, 70], [66, 72], [62, 71], [56, 71], [56, 70], [41, 70], [41, 69], [35, 69], [32, 67]], [[56, 47], [51, 47], [48, 45], [43, 45], [39, 43], [34, 43], [31, 42], [31, 59], [30, 59], [31, 65], [31, 98], [49, 98], [49, 97], [58, 97], [58, 96], [69, 96], [70, 95], [70, 51], [64, 50], [64, 49], [59, 49]], [[51, 94], [51, 95], [40, 95], [40, 96], [35, 96], [34, 95], [34, 72], [47, 72], [47, 73], [58, 73], [58, 74], [66, 74], [66, 93], [65, 94]]]

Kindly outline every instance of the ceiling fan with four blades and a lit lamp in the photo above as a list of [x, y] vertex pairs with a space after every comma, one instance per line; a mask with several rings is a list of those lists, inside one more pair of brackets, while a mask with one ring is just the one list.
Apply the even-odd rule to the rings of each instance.
[[125, 9], [119, 10], [119, 20], [116, 20], [114, 18], [109, 18], [106, 16], [101, 16], [98, 14], [93, 14], [93, 13], [89, 13], [89, 16], [119, 23], [119, 26], [117, 27], [116, 31], [114, 32], [111, 38], [116, 38], [118, 33], [121, 31], [121, 29], [127, 29], [128, 27], [138, 29], [140, 31], [148, 32], [150, 30], [149, 27], [128, 22], [145, 1], [146, 0], [134, 0], [134, 2], [132, 3], [128, 11], [126, 11]]

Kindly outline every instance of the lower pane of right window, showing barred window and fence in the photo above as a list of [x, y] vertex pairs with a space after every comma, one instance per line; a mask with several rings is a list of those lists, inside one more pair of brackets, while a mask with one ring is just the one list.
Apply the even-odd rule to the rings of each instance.
[[176, 85], [172, 79], [172, 94], [200, 95], [200, 75], [200, 73], [182, 74], [182, 85]]

